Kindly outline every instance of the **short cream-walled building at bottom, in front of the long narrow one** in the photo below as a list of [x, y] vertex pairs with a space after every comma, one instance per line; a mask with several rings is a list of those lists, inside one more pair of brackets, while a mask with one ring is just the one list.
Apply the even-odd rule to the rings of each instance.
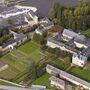
[[58, 89], [62, 89], [62, 90], [65, 90], [65, 81], [55, 77], [55, 76], [51, 76], [49, 78], [50, 80], [50, 83], [52, 86], [55, 86], [57, 87]]

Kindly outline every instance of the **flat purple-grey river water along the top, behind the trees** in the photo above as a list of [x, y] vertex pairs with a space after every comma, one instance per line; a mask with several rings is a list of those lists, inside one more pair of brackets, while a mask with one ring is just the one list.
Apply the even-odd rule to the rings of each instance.
[[62, 6], [75, 7], [79, 0], [25, 0], [21, 5], [37, 7], [36, 14], [40, 16], [47, 16], [50, 7], [54, 2], [60, 2]]

